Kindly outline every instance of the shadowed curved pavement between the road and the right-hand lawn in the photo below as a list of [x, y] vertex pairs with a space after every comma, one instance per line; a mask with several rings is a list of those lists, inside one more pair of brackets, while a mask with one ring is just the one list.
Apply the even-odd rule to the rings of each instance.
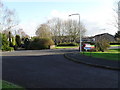
[[[94, 67], [106, 68], [112, 70], [120, 70], [120, 61], [105, 60], [81, 55], [80, 53], [67, 53], [64, 55], [67, 59], [77, 63], [82, 63]], [[118, 59], [119, 59], [118, 55]]]

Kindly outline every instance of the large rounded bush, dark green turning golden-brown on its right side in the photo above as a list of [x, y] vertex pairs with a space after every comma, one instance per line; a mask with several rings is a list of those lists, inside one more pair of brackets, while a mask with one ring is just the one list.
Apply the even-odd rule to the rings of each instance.
[[49, 49], [51, 45], [54, 45], [54, 42], [49, 38], [35, 38], [33, 41], [30, 42], [28, 49]]

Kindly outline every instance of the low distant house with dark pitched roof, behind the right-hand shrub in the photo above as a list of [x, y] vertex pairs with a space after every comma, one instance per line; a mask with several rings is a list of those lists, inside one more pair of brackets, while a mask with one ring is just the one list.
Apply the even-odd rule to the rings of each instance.
[[82, 42], [98, 42], [101, 39], [108, 40], [109, 42], [114, 42], [115, 38], [113, 35], [109, 33], [98, 34], [93, 37], [84, 37], [82, 38]]

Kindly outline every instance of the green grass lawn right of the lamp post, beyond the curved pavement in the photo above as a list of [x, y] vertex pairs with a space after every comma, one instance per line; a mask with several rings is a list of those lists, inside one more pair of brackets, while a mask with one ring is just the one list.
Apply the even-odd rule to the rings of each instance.
[[115, 60], [115, 61], [120, 61], [120, 49], [111, 49], [106, 52], [82, 52], [82, 54], [86, 56], [92, 56], [96, 58], [103, 58], [106, 60]]

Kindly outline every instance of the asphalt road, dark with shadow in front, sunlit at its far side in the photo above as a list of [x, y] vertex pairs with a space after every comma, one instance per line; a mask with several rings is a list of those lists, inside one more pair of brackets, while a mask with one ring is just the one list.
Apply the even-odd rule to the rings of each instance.
[[118, 71], [77, 64], [62, 55], [75, 51], [4, 52], [3, 80], [25, 88], [118, 88]]

